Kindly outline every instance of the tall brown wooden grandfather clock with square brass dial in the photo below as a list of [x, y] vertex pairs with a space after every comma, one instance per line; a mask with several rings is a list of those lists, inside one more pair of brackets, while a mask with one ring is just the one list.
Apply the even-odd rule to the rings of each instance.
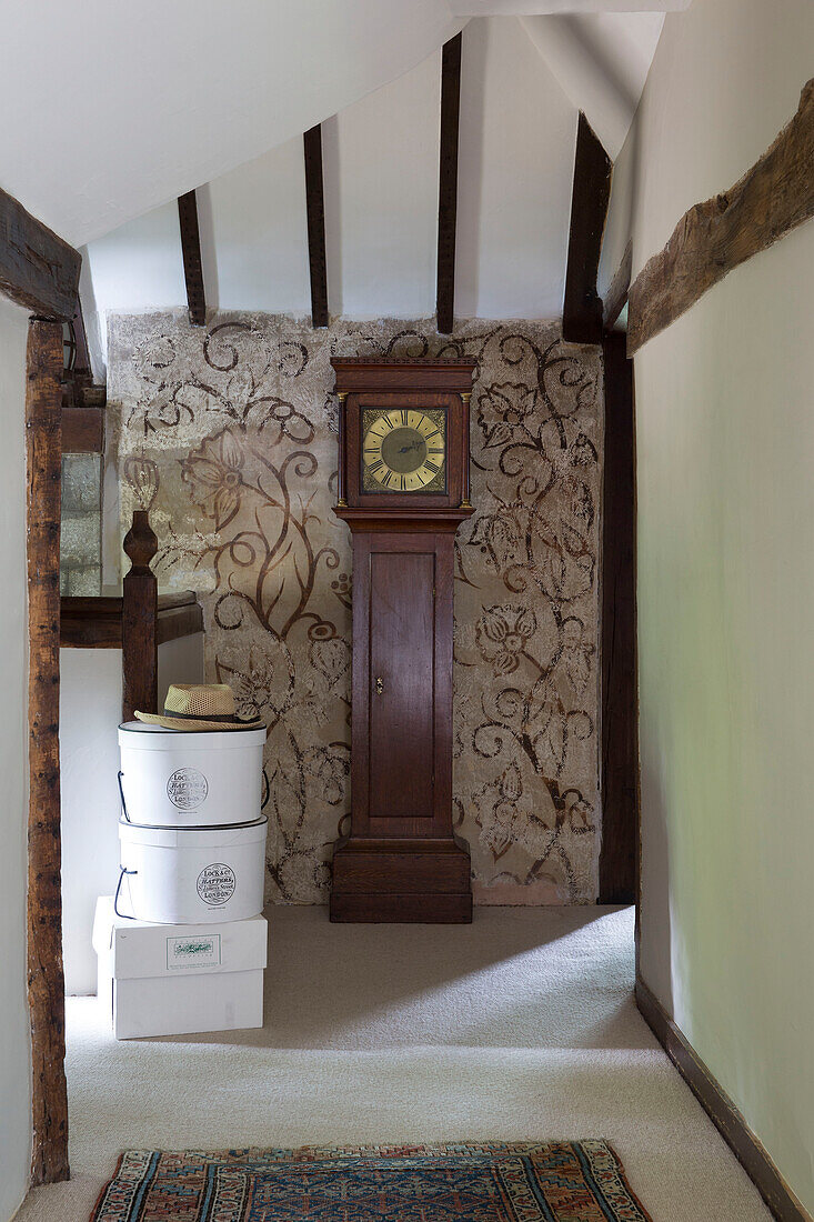
[[455, 532], [469, 503], [473, 360], [334, 359], [336, 516], [353, 535], [351, 831], [335, 921], [472, 920], [452, 831]]

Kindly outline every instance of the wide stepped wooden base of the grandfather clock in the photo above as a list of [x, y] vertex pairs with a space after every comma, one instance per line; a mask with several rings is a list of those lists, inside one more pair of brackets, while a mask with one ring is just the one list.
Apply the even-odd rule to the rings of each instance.
[[472, 921], [469, 854], [456, 840], [348, 837], [334, 853], [332, 921]]

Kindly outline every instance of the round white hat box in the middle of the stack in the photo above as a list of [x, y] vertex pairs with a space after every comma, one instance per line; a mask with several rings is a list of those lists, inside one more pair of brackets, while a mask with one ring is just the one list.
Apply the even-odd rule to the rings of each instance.
[[263, 910], [268, 819], [225, 827], [144, 827], [119, 820], [116, 908], [165, 925], [246, 920]]

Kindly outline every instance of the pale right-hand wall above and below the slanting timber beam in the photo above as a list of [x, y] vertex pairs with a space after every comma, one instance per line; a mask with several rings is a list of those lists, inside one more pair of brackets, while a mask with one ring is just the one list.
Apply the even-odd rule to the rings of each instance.
[[[812, 46], [809, 0], [667, 17], [612, 203], [634, 271], [768, 148]], [[809, 1211], [813, 277], [808, 222], [636, 357], [642, 973]]]

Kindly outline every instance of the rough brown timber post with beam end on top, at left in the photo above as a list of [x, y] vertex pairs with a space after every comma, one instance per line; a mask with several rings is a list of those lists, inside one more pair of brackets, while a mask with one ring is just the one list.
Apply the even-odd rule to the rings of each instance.
[[31, 1184], [70, 1178], [60, 837], [60, 494], [64, 326], [78, 251], [0, 191], [0, 292], [32, 312], [26, 354], [28, 576], [28, 1011]]

